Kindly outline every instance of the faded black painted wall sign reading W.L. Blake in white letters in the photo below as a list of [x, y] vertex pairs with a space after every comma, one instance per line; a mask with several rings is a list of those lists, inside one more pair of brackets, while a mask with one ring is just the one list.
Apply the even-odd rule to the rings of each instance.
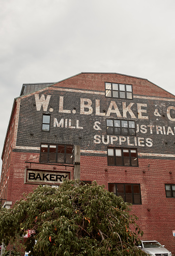
[[[32, 109], [28, 107], [31, 102]], [[141, 153], [173, 154], [175, 99], [134, 95], [132, 100], [104, 92], [50, 88], [21, 99], [17, 148], [40, 149], [40, 143], [78, 144], [83, 152], [106, 152], [107, 146], [137, 147]], [[42, 114], [50, 114], [50, 131], [41, 133]], [[135, 136], [106, 133], [106, 120], [135, 122]], [[24, 125], [31, 122], [31, 126]], [[28, 139], [24, 134], [34, 131]], [[24, 141], [24, 138], [26, 139]], [[168, 145], [168, 147], [166, 146]]]

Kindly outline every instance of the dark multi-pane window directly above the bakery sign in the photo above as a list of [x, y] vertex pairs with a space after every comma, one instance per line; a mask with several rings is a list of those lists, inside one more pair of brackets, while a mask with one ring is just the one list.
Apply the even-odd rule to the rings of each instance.
[[73, 163], [73, 145], [41, 144], [40, 162]]

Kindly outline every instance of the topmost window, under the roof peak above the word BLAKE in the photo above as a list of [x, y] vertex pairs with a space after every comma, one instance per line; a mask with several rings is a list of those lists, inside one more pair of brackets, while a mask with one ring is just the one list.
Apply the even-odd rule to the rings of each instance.
[[112, 98], [132, 99], [132, 85], [105, 83], [105, 95]]

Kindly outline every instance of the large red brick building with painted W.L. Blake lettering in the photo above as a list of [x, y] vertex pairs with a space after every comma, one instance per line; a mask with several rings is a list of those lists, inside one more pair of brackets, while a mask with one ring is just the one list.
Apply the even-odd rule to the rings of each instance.
[[133, 203], [144, 239], [175, 252], [175, 96], [134, 76], [82, 72], [23, 84], [2, 153], [0, 198], [10, 208], [38, 184], [74, 178]]

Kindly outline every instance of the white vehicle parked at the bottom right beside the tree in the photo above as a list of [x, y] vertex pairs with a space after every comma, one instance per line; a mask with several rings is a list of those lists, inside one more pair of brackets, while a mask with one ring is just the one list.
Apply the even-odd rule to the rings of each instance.
[[172, 256], [171, 252], [156, 240], [140, 240], [137, 247], [150, 256]]

